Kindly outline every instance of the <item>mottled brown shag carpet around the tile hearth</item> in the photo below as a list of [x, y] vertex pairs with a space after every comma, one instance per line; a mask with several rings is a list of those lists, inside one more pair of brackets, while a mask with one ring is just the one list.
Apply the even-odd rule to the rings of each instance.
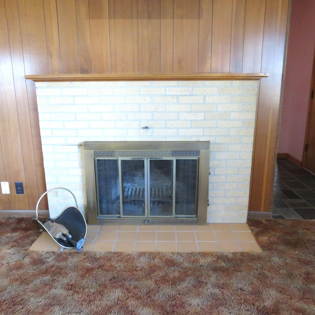
[[0, 314], [314, 315], [315, 221], [249, 225], [261, 253], [32, 252], [0, 219]]

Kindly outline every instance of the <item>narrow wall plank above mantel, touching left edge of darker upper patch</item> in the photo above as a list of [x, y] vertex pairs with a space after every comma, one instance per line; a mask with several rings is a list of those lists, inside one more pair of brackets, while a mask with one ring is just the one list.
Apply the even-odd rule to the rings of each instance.
[[92, 73], [89, 0], [76, 0], [80, 73]]

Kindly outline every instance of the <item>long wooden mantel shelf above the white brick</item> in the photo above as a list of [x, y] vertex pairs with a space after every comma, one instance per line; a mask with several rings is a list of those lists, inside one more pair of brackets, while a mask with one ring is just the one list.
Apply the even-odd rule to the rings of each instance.
[[196, 80], [259, 80], [268, 73], [192, 73], [192, 74], [62, 74], [25, 75], [34, 82], [69, 81], [196, 81]]

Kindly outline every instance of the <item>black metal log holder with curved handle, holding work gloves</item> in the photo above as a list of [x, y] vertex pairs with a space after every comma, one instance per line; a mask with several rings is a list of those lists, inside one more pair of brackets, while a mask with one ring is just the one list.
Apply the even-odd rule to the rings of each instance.
[[[40, 221], [38, 219], [38, 206], [41, 199], [50, 191], [56, 189], [64, 189], [69, 191], [75, 201], [76, 207], [66, 207], [63, 212], [55, 219], [47, 219]], [[36, 217], [33, 221], [37, 223], [40, 228], [47, 232], [48, 235], [60, 246], [59, 251], [75, 248], [77, 252], [83, 252], [83, 244], [87, 233], [87, 223], [78, 210], [78, 203], [73, 192], [64, 187], [55, 187], [44, 192], [36, 204]]]

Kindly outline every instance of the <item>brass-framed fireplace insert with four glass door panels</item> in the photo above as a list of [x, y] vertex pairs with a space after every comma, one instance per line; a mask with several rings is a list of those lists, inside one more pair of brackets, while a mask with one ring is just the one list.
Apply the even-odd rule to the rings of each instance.
[[205, 224], [208, 141], [83, 143], [92, 224]]

